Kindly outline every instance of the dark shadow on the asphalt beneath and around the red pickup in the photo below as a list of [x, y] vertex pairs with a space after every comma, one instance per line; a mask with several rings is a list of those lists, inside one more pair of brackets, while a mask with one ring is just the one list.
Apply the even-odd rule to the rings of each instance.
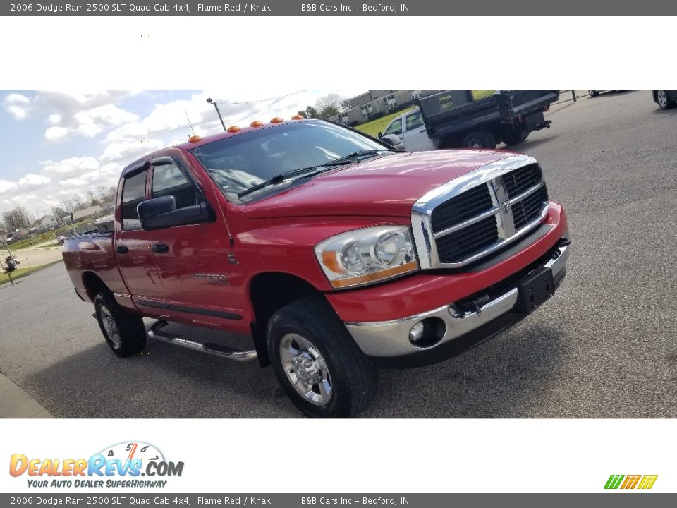
[[[504, 332], [437, 365], [381, 369], [377, 399], [362, 416], [532, 416], [523, 408], [538, 404], [559, 357], [560, 337], [554, 329], [521, 330]], [[211, 334], [209, 340], [214, 340]], [[97, 339], [98, 345], [28, 378], [25, 388], [56, 418], [301, 416], [272, 369], [260, 368], [257, 361], [238, 363], [154, 339], [148, 339], [142, 353], [117, 358], [100, 336]]]

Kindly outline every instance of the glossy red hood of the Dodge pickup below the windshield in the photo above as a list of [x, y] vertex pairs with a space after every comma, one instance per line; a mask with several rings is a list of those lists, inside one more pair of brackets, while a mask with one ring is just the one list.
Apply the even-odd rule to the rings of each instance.
[[396, 153], [341, 167], [243, 207], [248, 217], [359, 215], [410, 217], [428, 191], [513, 155], [496, 150]]

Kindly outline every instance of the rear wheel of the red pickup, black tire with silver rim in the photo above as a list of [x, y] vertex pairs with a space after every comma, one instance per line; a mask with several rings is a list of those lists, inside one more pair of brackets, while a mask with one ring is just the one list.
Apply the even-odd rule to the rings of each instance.
[[[106, 344], [117, 356], [130, 356], [145, 348], [146, 327], [142, 317], [119, 306], [110, 291], [102, 291], [94, 298], [94, 315]], [[117, 334], [111, 326], [115, 327]]]

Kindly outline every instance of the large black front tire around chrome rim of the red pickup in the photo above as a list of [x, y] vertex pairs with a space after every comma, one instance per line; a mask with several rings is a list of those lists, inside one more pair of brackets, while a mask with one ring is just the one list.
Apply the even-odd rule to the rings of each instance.
[[[302, 339], [306, 347], [300, 342]], [[326, 379], [331, 387], [327, 401], [313, 403], [308, 395], [304, 396], [298, 391], [291, 378], [300, 379], [302, 375], [300, 370], [295, 371], [298, 365], [290, 361], [285, 363], [281, 344], [295, 346], [297, 354], [293, 356], [294, 361], [299, 361], [298, 358], [307, 353], [312, 366], [317, 362], [327, 368]], [[307, 344], [311, 347], [307, 347]], [[307, 416], [350, 418], [358, 415], [372, 401], [377, 387], [376, 367], [360, 351], [323, 297], [302, 298], [274, 313], [268, 323], [267, 346], [277, 380], [295, 406]], [[291, 356], [288, 354], [286, 358]], [[307, 374], [303, 370], [303, 374]], [[315, 373], [318, 372], [324, 371], [315, 370]], [[308, 384], [300, 382], [300, 387], [305, 388], [310, 397], [322, 397], [319, 385], [312, 384], [312, 379]], [[309, 386], [312, 386], [312, 391], [307, 389]], [[324, 389], [326, 391], [327, 387]]]

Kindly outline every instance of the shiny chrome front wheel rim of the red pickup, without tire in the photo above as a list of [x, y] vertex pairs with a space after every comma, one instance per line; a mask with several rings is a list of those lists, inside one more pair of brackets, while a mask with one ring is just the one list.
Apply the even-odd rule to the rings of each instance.
[[334, 394], [329, 368], [312, 342], [298, 334], [286, 334], [280, 341], [280, 360], [301, 396], [316, 406], [329, 404]]

